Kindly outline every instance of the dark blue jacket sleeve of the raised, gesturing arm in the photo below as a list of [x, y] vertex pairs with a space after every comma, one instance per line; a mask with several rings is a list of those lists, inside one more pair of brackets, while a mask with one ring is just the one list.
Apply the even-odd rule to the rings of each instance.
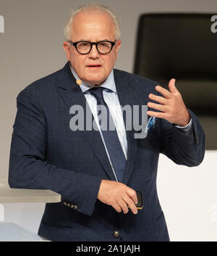
[[192, 128], [184, 132], [166, 120], [161, 123], [161, 153], [178, 165], [189, 167], [200, 165], [205, 154], [205, 135], [197, 116], [189, 110]]

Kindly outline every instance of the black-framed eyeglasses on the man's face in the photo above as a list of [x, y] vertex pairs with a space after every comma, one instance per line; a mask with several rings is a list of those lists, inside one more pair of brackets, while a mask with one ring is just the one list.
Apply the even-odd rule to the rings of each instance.
[[71, 40], [68, 40], [67, 42], [75, 46], [75, 49], [77, 49], [80, 54], [88, 54], [92, 50], [93, 45], [95, 45], [99, 54], [108, 54], [112, 50], [116, 41], [99, 41], [92, 43], [89, 41], [72, 42]]

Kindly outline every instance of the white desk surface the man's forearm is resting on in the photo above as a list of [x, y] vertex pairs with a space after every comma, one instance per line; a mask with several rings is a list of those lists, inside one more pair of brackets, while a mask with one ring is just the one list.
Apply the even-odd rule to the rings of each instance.
[[7, 180], [0, 179], [0, 203], [60, 202], [61, 195], [44, 189], [11, 189]]

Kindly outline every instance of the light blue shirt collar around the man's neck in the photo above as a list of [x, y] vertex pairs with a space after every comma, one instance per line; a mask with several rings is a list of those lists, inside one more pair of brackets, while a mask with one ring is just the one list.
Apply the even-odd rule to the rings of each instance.
[[[79, 79], [78, 75], [75, 73], [75, 70], [73, 70], [73, 68], [71, 68], [72, 70], [72, 74], [74, 75], [75, 79]], [[81, 84], [80, 84], [80, 88], [82, 90], [83, 93], [87, 92], [90, 88], [93, 88], [94, 86], [91, 86], [88, 83], [85, 83], [84, 81], [81, 80]], [[111, 70], [111, 73], [108, 75], [108, 78], [106, 78], [106, 80], [101, 84], [101, 87], [107, 88], [111, 91], [114, 91], [116, 93], [116, 85], [114, 83], [114, 70]]]

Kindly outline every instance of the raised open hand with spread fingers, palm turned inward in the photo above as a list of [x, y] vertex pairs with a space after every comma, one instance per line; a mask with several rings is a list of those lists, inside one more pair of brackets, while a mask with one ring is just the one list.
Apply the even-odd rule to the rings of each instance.
[[185, 107], [182, 95], [179, 93], [175, 86], [175, 79], [169, 81], [169, 91], [161, 86], [156, 86], [156, 91], [160, 92], [163, 96], [156, 96], [149, 94], [149, 99], [160, 103], [155, 104], [148, 102], [148, 107], [161, 112], [148, 111], [148, 115], [166, 119], [169, 123], [174, 123], [179, 126], [185, 126], [190, 122], [190, 114]]

